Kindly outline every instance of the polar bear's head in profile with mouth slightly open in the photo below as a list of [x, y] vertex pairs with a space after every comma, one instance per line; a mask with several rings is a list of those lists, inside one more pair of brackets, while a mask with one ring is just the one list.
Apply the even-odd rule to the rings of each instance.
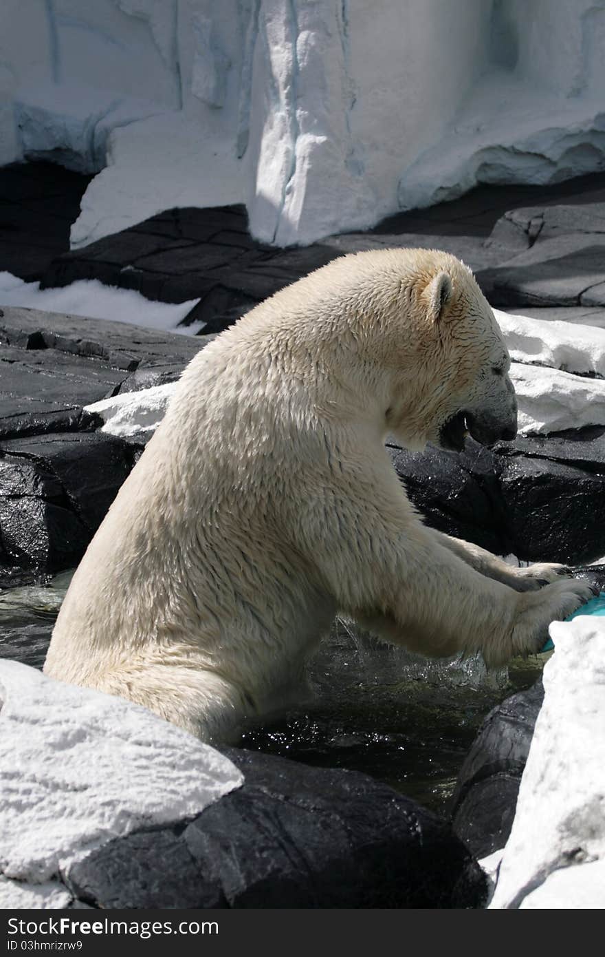
[[465, 434], [483, 445], [514, 438], [508, 349], [471, 271], [436, 250], [390, 250], [384, 266], [389, 431], [411, 449], [433, 442], [458, 452]]

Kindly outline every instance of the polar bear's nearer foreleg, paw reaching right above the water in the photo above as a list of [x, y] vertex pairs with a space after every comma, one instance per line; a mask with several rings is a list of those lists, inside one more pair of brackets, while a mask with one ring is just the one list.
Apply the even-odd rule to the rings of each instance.
[[[310, 542], [339, 609], [387, 640], [433, 657], [481, 651], [498, 665], [537, 653], [551, 621], [593, 597], [575, 579], [517, 591], [486, 577], [387, 494], [357, 499], [335, 524], [315, 519]], [[360, 536], [360, 527], [371, 532]]]

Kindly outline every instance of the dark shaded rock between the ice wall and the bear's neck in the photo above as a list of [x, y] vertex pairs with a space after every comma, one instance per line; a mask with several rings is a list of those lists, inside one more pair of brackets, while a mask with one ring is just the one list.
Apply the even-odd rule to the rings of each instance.
[[184, 324], [220, 332], [257, 302], [325, 265], [337, 251], [274, 250], [248, 234], [244, 206], [166, 210], [120, 233], [56, 256], [41, 286], [97, 278], [163, 302], [200, 299]]

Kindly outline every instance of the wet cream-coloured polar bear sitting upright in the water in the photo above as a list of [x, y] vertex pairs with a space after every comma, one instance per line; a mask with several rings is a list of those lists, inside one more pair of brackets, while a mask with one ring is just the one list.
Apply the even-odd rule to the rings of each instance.
[[342, 256], [262, 302], [184, 370], [76, 570], [46, 674], [220, 742], [286, 700], [338, 611], [423, 655], [536, 652], [592, 590], [423, 525], [384, 447], [513, 438], [508, 367], [443, 252]]

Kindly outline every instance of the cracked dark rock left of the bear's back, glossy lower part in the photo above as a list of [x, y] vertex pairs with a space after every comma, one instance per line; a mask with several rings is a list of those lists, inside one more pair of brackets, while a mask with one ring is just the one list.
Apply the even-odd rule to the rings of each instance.
[[204, 337], [0, 309], [0, 587], [79, 561], [140, 446], [91, 402], [177, 379]]

